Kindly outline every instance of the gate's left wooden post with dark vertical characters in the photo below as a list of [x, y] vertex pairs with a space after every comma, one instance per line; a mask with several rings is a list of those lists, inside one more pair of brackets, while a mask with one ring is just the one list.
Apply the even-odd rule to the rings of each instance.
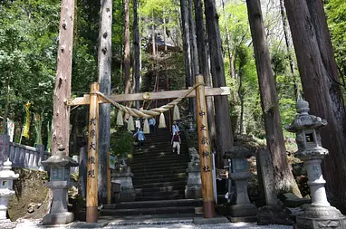
[[98, 206], [98, 135], [99, 135], [99, 98], [96, 92], [100, 91], [98, 82], [91, 83], [89, 108], [89, 136], [88, 136], [88, 171], [87, 171], [87, 212], [86, 222], [97, 223]]

